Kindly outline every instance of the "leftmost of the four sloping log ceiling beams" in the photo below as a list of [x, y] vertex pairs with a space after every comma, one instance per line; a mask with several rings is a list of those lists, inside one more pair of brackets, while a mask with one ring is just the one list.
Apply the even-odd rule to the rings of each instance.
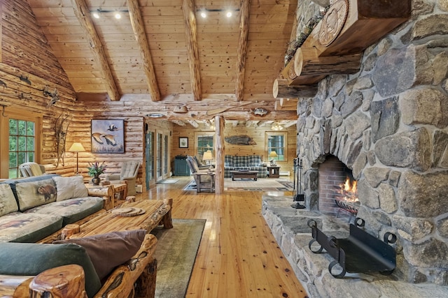
[[118, 92], [115, 80], [113, 80], [111, 67], [107, 61], [106, 54], [104, 53], [104, 47], [94, 28], [92, 18], [90, 17], [90, 11], [89, 8], [87, 8], [85, 0], [71, 0], [71, 6], [73, 6], [75, 15], [89, 39], [90, 48], [92, 49], [94, 59], [98, 64], [99, 71], [102, 74], [109, 98], [111, 98], [111, 100], [120, 100], [120, 93]]

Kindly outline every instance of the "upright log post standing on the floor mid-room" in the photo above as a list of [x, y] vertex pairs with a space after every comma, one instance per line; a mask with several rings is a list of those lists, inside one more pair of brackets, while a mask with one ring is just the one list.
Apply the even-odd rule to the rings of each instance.
[[224, 193], [224, 117], [215, 117], [215, 193]]

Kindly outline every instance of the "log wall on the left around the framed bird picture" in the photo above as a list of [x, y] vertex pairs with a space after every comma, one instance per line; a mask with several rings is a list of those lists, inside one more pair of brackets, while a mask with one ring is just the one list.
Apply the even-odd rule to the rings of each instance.
[[[42, 154], [41, 163], [48, 172], [71, 175], [76, 169], [76, 154], [66, 152], [64, 165], [57, 164], [55, 120], [60, 114], [73, 115], [66, 137], [66, 149], [72, 142], [81, 142], [86, 152], [79, 154], [79, 168], [87, 177], [86, 167], [92, 161], [106, 160], [107, 172], [119, 172], [119, 163], [123, 159], [142, 161], [143, 156], [143, 118], [123, 112], [123, 103], [104, 105], [101, 103], [79, 103], [76, 93], [69, 84], [69, 79], [59, 65], [52, 49], [46, 42], [38, 23], [31, 13], [27, 1], [1, 1], [1, 61], [0, 102], [6, 103], [5, 114], [15, 108], [42, 115]], [[20, 80], [27, 77], [31, 84]], [[57, 89], [59, 100], [55, 105], [48, 105], [49, 97], [43, 95], [43, 88], [49, 91]], [[91, 154], [90, 153], [90, 120], [91, 119], [124, 119], [125, 154]], [[7, 148], [6, 148], [7, 151]], [[110, 161], [110, 163], [109, 163]], [[3, 168], [3, 164], [1, 165]], [[6, 173], [7, 173], [6, 165]]]

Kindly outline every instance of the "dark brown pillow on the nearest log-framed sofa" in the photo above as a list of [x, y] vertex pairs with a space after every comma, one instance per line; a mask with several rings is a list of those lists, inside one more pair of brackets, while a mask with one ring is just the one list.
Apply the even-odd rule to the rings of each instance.
[[90, 237], [54, 241], [53, 244], [76, 243], [85, 248], [102, 280], [115, 267], [130, 260], [144, 241], [146, 230], [110, 232]]

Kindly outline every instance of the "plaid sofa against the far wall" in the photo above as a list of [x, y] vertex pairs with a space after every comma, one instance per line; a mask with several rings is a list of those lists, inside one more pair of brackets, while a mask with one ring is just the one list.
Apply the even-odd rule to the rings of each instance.
[[258, 171], [258, 178], [267, 177], [267, 165], [262, 162], [262, 157], [259, 155], [248, 156], [224, 156], [224, 177], [230, 178], [230, 171], [236, 170], [250, 170]]

